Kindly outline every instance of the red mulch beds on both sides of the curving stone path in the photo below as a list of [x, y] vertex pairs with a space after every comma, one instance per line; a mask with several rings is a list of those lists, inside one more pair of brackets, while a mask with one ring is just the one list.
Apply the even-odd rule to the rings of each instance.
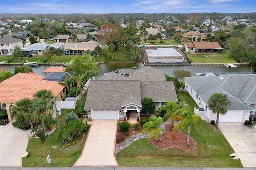
[[[160, 141], [158, 139], [158, 142], [156, 142], [155, 138], [153, 137], [150, 140], [150, 142], [160, 149], [178, 147], [185, 151], [192, 151], [196, 148], [196, 143], [194, 140], [192, 140], [192, 138], [190, 138], [190, 140], [189, 140], [191, 143], [191, 145], [189, 146], [189, 145], [187, 145], [187, 135], [186, 134], [183, 134], [179, 130], [176, 130], [175, 132], [173, 132], [170, 130], [169, 127], [170, 127], [170, 125], [166, 125], [164, 133], [160, 135], [160, 138], [162, 138], [162, 141]], [[133, 131], [134, 130], [132, 130], [132, 128], [130, 127], [129, 132], [124, 134], [120, 131], [120, 128], [118, 127], [116, 130], [116, 139], [123, 137], [123, 139], [125, 140], [125, 139], [129, 138], [130, 136], [133, 136], [134, 134], [141, 133], [142, 127], [140, 126], [140, 128], [138, 130], [136, 130], [135, 133], [132, 133]], [[172, 140], [173, 134], [175, 134], [175, 140]], [[124, 140], [122, 140], [122, 141], [124, 141]], [[116, 146], [118, 144], [122, 143], [122, 141], [119, 143], [116, 142]]]

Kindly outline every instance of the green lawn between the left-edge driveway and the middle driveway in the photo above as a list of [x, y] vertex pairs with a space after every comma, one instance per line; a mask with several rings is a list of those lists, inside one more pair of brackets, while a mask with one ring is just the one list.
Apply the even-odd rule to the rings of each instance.
[[[62, 109], [62, 114], [59, 115], [60, 127], [64, 125], [64, 117], [66, 113], [72, 111], [72, 109]], [[58, 140], [58, 128], [48, 135], [44, 143], [40, 141], [39, 138], [32, 138], [28, 140], [27, 152], [28, 157], [22, 158], [23, 167], [46, 167], [46, 166], [72, 166], [82, 153], [84, 143], [86, 140], [86, 134], [84, 134], [84, 141], [71, 150], [63, 150], [60, 145], [60, 140]], [[57, 146], [57, 148], [52, 148], [52, 146]], [[46, 162], [47, 155], [50, 155], [52, 162], [48, 164]]]

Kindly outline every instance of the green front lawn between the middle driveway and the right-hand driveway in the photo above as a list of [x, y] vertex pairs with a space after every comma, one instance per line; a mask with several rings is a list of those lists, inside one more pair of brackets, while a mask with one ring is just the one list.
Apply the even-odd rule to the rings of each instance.
[[[186, 91], [177, 91], [180, 101], [194, 105]], [[191, 104], [192, 103], [192, 104]], [[186, 130], [182, 130], [185, 134]], [[242, 168], [239, 159], [229, 155], [234, 150], [219, 129], [210, 127], [206, 121], [199, 119], [192, 125], [190, 136], [196, 141], [196, 150], [185, 152], [180, 148], [160, 150], [150, 144], [148, 139], [133, 142], [116, 154], [120, 166], [140, 167], [234, 167]], [[210, 145], [210, 147], [208, 146]], [[213, 147], [214, 145], [214, 147]]]

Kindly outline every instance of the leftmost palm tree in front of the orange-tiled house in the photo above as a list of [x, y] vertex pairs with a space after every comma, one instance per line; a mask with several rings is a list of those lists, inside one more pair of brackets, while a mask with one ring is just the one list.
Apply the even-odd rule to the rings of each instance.
[[13, 107], [12, 113], [14, 115], [22, 114], [25, 119], [28, 119], [32, 132], [34, 132], [34, 127], [32, 123], [32, 112], [30, 112], [30, 108], [32, 107], [32, 101], [28, 98], [23, 98], [20, 101], [17, 101], [16, 106]]

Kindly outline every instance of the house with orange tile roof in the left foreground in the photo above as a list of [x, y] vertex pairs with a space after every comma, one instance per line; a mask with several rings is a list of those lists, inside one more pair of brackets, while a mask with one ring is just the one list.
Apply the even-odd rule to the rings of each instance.
[[29, 98], [33, 99], [38, 90], [51, 90], [56, 96], [56, 101], [66, 97], [66, 88], [57, 81], [43, 80], [46, 76], [27, 73], [18, 73], [0, 83], [0, 106], [7, 110], [9, 121], [12, 120], [12, 105], [16, 101]]

